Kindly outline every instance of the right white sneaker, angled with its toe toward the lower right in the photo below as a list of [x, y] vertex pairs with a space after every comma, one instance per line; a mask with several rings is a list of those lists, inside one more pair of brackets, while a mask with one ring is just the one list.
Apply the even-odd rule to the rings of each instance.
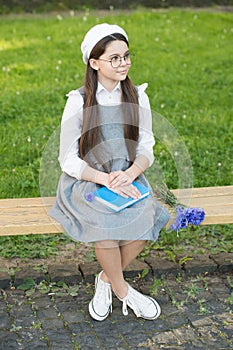
[[161, 314], [161, 308], [156, 300], [143, 295], [136, 291], [128, 284], [128, 294], [123, 299], [122, 312], [123, 315], [128, 315], [127, 306], [129, 306], [137, 317], [145, 318], [146, 320], [155, 320]]

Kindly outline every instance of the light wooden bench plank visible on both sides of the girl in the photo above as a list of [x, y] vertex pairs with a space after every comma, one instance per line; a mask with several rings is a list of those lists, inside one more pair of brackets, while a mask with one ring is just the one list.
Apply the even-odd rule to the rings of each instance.
[[[188, 201], [191, 207], [204, 208], [204, 225], [233, 223], [233, 186], [172, 192], [181, 202]], [[0, 236], [63, 232], [62, 226], [48, 215], [54, 200], [54, 197], [1, 199]]]

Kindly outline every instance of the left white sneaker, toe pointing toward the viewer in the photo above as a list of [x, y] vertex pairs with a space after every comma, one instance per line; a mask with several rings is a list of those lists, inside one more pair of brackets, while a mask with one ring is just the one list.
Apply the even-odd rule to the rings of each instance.
[[97, 321], [103, 321], [112, 312], [111, 284], [104, 282], [100, 276], [101, 271], [95, 278], [95, 295], [89, 303], [89, 313]]

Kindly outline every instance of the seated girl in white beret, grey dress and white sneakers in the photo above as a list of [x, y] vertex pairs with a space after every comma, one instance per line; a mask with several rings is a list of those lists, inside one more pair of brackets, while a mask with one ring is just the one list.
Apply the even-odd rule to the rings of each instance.
[[139, 198], [134, 180], [149, 187], [144, 171], [153, 163], [154, 137], [147, 84], [135, 87], [126, 32], [106, 23], [91, 28], [82, 44], [87, 65], [84, 87], [68, 94], [64, 109], [59, 162], [62, 175], [50, 214], [76, 241], [92, 242], [102, 271], [89, 304], [92, 318], [112, 312], [112, 291], [137, 317], [160, 315], [156, 300], [133, 289], [123, 270], [157, 240], [169, 213], [151, 196], [116, 213], [87, 201], [87, 193], [106, 186], [123, 197]]

